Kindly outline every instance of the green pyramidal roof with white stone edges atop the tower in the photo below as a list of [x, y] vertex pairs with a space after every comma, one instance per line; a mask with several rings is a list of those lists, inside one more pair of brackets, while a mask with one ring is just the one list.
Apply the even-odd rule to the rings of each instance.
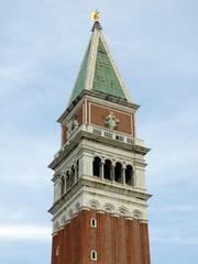
[[98, 21], [92, 26], [92, 34], [70, 96], [69, 105], [84, 89], [131, 101]]

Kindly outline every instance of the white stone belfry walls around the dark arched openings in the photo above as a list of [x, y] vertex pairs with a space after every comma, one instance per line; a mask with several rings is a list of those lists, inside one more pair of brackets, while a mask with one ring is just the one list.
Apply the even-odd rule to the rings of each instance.
[[[87, 127], [89, 128], [89, 127]], [[96, 150], [96, 151], [95, 151]], [[102, 179], [103, 183], [113, 184], [114, 186], [121, 186], [122, 188], [129, 187], [130, 189], [135, 187], [135, 189], [145, 190], [145, 161], [141, 154], [135, 154], [130, 151], [114, 148], [112, 146], [105, 146], [101, 143], [89, 142], [87, 140], [82, 140], [77, 148], [75, 148], [70, 155], [65, 158], [65, 161], [56, 168], [54, 182], [54, 201], [61, 198], [61, 178], [65, 176], [68, 170], [73, 166], [76, 167], [78, 161], [78, 178], [81, 176], [88, 175], [92, 180], [97, 180], [97, 178], [92, 178], [92, 162], [94, 158], [98, 156], [101, 161], [110, 160], [112, 164], [119, 162], [122, 164], [122, 167], [128, 165], [133, 168], [133, 183], [134, 186], [128, 186], [127, 184], [112, 183], [108, 179]], [[88, 170], [87, 170], [88, 169]], [[77, 180], [76, 176], [75, 179]], [[139, 179], [139, 180], [138, 180]], [[101, 180], [101, 179], [100, 179]], [[76, 182], [74, 182], [75, 185]], [[74, 185], [69, 188], [73, 188]], [[68, 190], [68, 188], [67, 188]]]

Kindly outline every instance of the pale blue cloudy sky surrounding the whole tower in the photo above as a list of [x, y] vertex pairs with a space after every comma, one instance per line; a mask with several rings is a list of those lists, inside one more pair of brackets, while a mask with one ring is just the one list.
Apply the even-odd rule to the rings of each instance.
[[198, 261], [198, 2], [0, 0], [0, 263], [50, 263], [53, 173], [90, 12], [136, 103], [152, 264]]

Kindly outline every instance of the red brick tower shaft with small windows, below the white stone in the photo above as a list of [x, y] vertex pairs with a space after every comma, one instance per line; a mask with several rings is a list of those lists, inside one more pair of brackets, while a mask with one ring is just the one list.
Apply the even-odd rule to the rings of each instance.
[[[97, 228], [90, 219], [97, 219]], [[59, 255], [55, 255], [59, 246]], [[91, 250], [98, 261], [90, 260]], [[150, 264], [147, 224], [110, 213], [81, 211], [53, 237], [52, 264]]]

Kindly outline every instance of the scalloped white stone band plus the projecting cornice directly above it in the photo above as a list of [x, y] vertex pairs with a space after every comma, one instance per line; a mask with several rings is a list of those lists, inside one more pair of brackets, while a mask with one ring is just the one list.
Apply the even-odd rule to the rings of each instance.
[[[122, 190], [120, 195], [113, 198], [113, 194], [116, 194], [114, 188], [111, 187], [112, 197], [110, 193], [108, 194], [108, 196], [106, 197], [106, 193], [103, 193], [103, 195], [99, 191], [96, 194], [94, 187], [103, 191], [103, 185], [96, 186], [96, 183], [92, 183], [92, 180], [81, 178], [70, 191], [68, 191], [68, 194], [65, 194], [65, 196], [54, 204], [50, 209], [50, 212], [53, 215], [54, 232], [57, 232], [57, 230], [75, 218], [81, 210], [94, 210], [98, 213], [111, 213], [112, 217], [124, 217], [128, 220], [139, 219], [144, 222], [147, 221], [147, 206], [145, 200], [151, 197], [150, 195], [125, 190], [124, 198], [124, 190]], [[144, 201], [141, 197], [144, 197]], [[124, 201], [124, 199], [127, 200]]]

